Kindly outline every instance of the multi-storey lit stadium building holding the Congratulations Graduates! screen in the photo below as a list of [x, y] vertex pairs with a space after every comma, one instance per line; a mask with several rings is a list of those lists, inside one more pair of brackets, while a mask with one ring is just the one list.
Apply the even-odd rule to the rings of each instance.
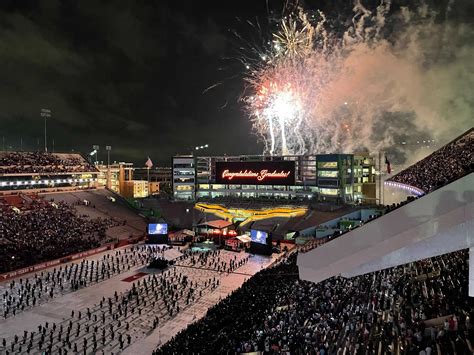
[[[370, 202], [372, 195], [364, 193], [371, 191], [365, 185], [375, 175], [373, 164], [369, 156], [353, 154], [176, 156], [173, 197]], [[375, 182], [373, 187], [375, 198]]]

